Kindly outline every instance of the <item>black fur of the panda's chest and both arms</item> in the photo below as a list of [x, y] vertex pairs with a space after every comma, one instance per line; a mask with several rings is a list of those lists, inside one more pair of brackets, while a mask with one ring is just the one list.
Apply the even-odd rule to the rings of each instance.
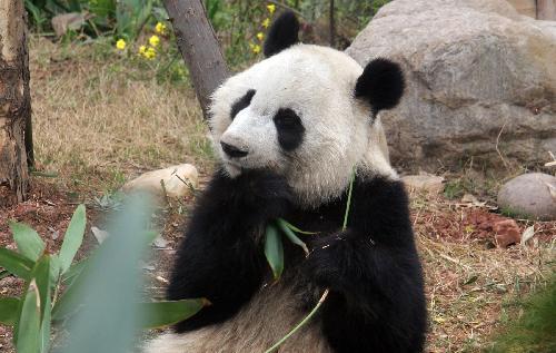
[[229, 179], [217, 173], [193, 213], [169, 288], [171, 300], [206, 296], [214, 305], [177, 330], [225, 321], [249, 301], [269, 277], [255, 235], [268, 220], [284, 217], [320, 232], [304, 237], [311, 248], [308, 258], [286, 245], [282, 280], [307, 293], [310, 303], [300, 303], [307, 311], [315, 304], [315, 287], [320, 293], [330, 288], [314, 320], [336, 352], [421, 352], [423, 276], [404, 187], [380, 177], [357, 178], [348, 228], [341, 232], [346, 194], [301, 209], [291, 204], [291, 192], [278, 176], [249, 171]]

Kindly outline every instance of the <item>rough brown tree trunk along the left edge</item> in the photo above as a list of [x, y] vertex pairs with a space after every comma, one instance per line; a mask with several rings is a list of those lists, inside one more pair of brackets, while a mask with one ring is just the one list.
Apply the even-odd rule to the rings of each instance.
[[29, 188], [26, 127], [31, 115], [26, 11], [0, 1], [0, 206], [22, 202]]

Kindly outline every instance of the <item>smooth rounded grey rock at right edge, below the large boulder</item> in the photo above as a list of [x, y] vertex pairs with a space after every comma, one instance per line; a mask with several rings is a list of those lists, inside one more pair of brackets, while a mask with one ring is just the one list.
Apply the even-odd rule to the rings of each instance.
[[532, 219], [556, 219], [556, 177], [530, 173], [520, 175], [498, 192], [498, 206]]

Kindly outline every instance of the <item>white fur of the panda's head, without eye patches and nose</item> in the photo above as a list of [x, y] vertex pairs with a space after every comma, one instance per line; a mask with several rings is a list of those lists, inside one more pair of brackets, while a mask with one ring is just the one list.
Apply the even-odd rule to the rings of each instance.
[[[354, 166], [358, 173], [396, 178], [380, 121], [355, 99], [363, 68], [344, 52], [297, 45], [254, 65], [215, 92], [210, 125], [215, 149], [232, 177], [242, 168], [270, 168], [285, 175], [300, 205], [316, 207], [344, 192]], [[249, 89], [257, 92], [234, 121], [230, 109]], [[291, 108], [306, 128], [304, 143], [288, 158], [278, 144], [272, 117]], [[220, 141], [249, 155], [228, 158]]]

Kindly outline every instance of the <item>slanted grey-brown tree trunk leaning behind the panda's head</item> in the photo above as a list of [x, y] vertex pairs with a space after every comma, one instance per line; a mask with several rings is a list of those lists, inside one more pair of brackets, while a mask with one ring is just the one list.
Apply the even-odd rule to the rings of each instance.
[[228, 77], [215, 30], [200, 0], [163, 0], [163, 3], [207, 118], [210, 95]]

